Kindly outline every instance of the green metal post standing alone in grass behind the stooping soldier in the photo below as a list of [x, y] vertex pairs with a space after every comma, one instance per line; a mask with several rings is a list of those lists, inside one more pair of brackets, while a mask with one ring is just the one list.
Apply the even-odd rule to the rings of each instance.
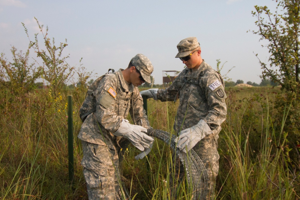
[[74, 178], [74, 152], [73, 152], [73, 102], [68, 96], [68, 153], [69, 153], [69, 181]]

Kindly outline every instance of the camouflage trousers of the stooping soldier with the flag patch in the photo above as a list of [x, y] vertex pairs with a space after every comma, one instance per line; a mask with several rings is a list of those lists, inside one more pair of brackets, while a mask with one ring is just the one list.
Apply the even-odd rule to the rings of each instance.
[[82, 141], [83, 175], [89, 200], [115, 200], [119, 191], [119, 158], [116, 149]]

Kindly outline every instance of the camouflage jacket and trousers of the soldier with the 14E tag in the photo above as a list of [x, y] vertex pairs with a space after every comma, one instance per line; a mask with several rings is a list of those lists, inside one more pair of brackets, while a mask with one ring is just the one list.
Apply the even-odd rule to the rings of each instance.
[[[204, 73], [205, 72], [205, 73]], [[203, 74], [204, 73], [204, 74]], [[195, 82], [198, 77], [202, 93], [205, 95], [202, 99]], [[191, 81], [191, 82], [185, 82]], [[193, 150], [203, 161], [209, 181], [209, 197], [214, 193], [214, 182], [219, 171], [219, 154], [217, 152], [219, 133], [221, 124], [226, 119], [226, 94], [224, 91], [224, 82], [220, 73], [213, 70], [204, 60], [198, 70], [184, 69], [172, 85], [166, 89], [160, 89], [157, 93], [157, 99], [161, 101], [173, 101], [179, 96], [179, 107], [174, 123], [174, 130], [178, 134], [181, 130], [190, 128], [197, 124], [201, 119], [204, 120], [213, 131], [211, 135], [205, 136], [198, 142]]]

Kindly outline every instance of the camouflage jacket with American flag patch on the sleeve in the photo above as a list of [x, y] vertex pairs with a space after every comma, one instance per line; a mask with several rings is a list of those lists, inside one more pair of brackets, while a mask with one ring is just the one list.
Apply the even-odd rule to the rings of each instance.
[[107, 73], [101, 79], [92, 94], [97, 101], [96, 111], [83, 122], [79, 139], [114, 149], [121, 137], [116, 137], [113, 133], [118, 130], [120, 122], [127, 118], [128, 113], [136, 125], [150, 128], [139, 89], [132, 84], [127, 86], [121, 71], [122, 69], [115, 72], [117, 76]]

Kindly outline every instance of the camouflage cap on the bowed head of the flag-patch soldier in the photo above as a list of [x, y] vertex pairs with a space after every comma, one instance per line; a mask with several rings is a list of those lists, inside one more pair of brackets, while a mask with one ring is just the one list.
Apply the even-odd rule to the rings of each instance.
[[139, 53], [131, 59], [131, 63], [140, 71], [143, 79], [151, 83], [150, 75], [153, 72], [153, 66], [149, 58]]

